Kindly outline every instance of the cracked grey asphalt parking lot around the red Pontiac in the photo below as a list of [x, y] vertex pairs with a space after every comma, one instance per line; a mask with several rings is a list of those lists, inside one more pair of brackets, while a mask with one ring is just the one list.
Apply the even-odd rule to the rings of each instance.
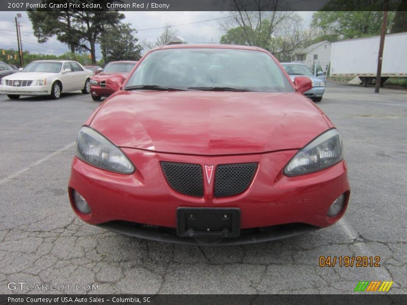
[[[100, 104], [0, 95], [0, 293], [407, 293], [407, 90], [329, 82], [321, 107], [343, 137], [351, 201], [337, 224], [231, 247], [146, 241], [87, 225], [67, 195], [77, 132]], [[320, 267], [320, 256], [379, 256], [380, 267]], [[9, 290], [8, 283], [98, 284]]]

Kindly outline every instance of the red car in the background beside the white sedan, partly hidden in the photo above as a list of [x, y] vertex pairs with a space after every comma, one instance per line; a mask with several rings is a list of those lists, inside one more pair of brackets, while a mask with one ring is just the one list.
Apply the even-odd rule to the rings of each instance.
[[[108, 97], [126, 80], [129, 72], [137, 62], [123, 61], [108, 63], [100, 73], [91, 78], [91, 96], [94, 101], [100, 101], [102, 97]], [[106, 81], [112, 80], [117, 87], [106, 87]]]

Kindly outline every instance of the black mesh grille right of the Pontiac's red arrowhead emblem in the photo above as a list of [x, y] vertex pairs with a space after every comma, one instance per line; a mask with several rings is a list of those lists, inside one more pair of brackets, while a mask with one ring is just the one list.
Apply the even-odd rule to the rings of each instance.
[[243, 193], [253, 180], [257, 163], [222, 164], [216, 168], [215, 197]]

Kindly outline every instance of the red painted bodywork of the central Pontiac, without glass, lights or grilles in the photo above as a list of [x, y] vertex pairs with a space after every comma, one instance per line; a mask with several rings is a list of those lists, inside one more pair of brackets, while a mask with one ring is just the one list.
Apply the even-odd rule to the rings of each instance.
[[[164, 48], [194, 47], [215, 46]], [[269, 54], [254, 47], [216, 47]], [[297, 86], [290, 84], [296, 90], [304, 86], [301, 79]], [[307, 85], [300, 90], [309, 89]], [[73, 159], [70, 200], [78, 217], [89, 224], [155, 240], [231, 245], [327, 227], [343, 216], [347, 206], [350, 186], [344, 160], [304, 175], [284, 174], [285, 166], [301, 148], [334, 128], [301, 92], [118, 90], [85, 126], [120, 147], [136, 169], [132, 174], [121, 174]], [[163, 162], [199, 165], [202, 195], [189, 196], [173, 189]], [[257, 164], [255, 173], [243, 192], [215, 196], [220, 165], [253, 163]], [[90, 214], [78, 210], [74, 190], [88, 202]], [[332, 202], [342, 194], [342, 209], [328, 217]], [[216, 240], [211, 236], [179, 237], [179, 208], [236, 209], [241, 234]]]

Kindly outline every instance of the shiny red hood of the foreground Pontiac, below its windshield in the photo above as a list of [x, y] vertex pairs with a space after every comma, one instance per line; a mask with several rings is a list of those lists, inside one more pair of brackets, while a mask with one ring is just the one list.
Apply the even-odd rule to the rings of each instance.
[[329, 128], [299, 93], [201, 91], [121, 91], [90, 126], [120, 147], [193, 155], [298, 149]]

